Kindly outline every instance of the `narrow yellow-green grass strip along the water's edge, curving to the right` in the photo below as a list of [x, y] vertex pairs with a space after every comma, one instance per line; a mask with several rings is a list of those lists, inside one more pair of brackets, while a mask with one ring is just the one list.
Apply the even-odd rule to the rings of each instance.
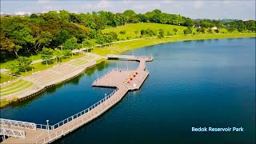
[[201, 39], [216, 39], [216, 38], [243, 38], [243, 37], [255, 37], [254, 33], [242, 33], [242, 34], [195, 34], [195, 35], [174, 35], [168, 38], [147, 38], [135, 40], [132, 42], [120, 42], [115, 43], [112, 46], [106, 46], [102, 48], [94, 48], [93, 53], [105, 55], [105, 54], [122, 54], [127, 50], [134, 50], [143, 46], [152, 46], [165, 42], [178, 42], [188, 40], [201, 40]]

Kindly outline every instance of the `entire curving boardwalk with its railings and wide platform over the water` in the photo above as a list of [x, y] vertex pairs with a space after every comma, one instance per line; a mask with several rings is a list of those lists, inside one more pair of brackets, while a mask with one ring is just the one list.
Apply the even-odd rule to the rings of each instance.
[[153, 61], [153, 57], [134, 55], [106, 55], [106, 58], [125, 58], [140, 63], [137, 69], [116, 68], [96, 79], [92, 86], [114, 87], [115, 90], [94, 103], [93, 106], [52, 126], [49, 126], [48, 122], [47, 125], [42, 125], [0, 118], [0, 135], [8, 136], [8, 138], [2, 137], [2, 143], [50, 143], [64, 137], [94, 118], [98, 118], [119, 102], [129, 90], [138, 90], [149, 75], [149, 71], [146, 70], [146, 62]]

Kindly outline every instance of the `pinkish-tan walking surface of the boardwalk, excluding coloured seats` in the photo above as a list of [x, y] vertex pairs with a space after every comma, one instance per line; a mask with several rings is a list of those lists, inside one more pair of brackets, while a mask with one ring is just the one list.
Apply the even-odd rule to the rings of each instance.
[[[134, 59], [135, 60], [135, 59]], [[2, 143], [49, 143], [53, 142], [54, 140], [65, 136], [66, 134], [72, 132], [73, 130], [77, 129], [79, 126], [83, 126], [84, 124], [90, 122], [94, 118], [98, 118], [101, 114], [103, 114], [106, 110], [109, 110], [111, 106], [114, 106], [117, 102], [119, 102], [128, 92], [128, 90], [137, 90], [142, 83], [145, 81], [147, 75], [149, 74], [146, 71], [146, 61], [152, 61], [153, 58], [137, 58], [140, 62], [138, 69], [136, 70], [111, 70], [106, 75], [98, 78], [94, 81], [93, 86], [114, 86], [116, 90], [113, 93], [106, 96], [102, 100], [96, 102], [93, 106], [90, 106], [86, 110], [82, 110], [81, 112], [70, 116], [62, 120], [61, 122], [56, 123], [53, 126], [50, 126], [49, 133], [46, 130], [45, 125], [36, 125], [37, 129], [33, 129], [35, 124], [31, 124], [31, 128], [24, 128], [20, 125], [19, 127], [10, 126], [8, 122], [2, 122], [5, 126], [1, 129], [4, 130], [6, 127], [9, 127], [13, 130], [22, 130], [26, 134], [26, 138], [14, 138], [10, 137], [7, 138], [5, 142]], [[135, 73], [134, 73], [135, 72]], [[137, 72], [137, 73], [136, 73]], [[129, 85], [125, 84], [126, 78], [130, 76], [130, 74], [137, 75], [133, 77], [134, 83], [137, 83], [137, 86], [130, 87]], [[113, 78], [111, 78], [113, 77]], [[130, 81], [130, 82], [131, 82]], [[102, 84], [102, 82], [106, 82]], [[133, 83], [133, 84], [134, 84]], [[10, 120], [11, 121], [11, 120]], [[11, 123], [11, 122], [10, 122]], [[30, 124], [29, 124], [30, 125]], [[44, 128], [45, 127], [45, 128]]]

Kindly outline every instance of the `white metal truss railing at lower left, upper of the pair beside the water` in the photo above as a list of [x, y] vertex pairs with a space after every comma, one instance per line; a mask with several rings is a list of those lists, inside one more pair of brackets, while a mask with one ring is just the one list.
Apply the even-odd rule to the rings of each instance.
[[0, 124], [3, 126], [14, 126], [14, 127], [21, 127], [26, 129], [32, 129], [32, 130], [37, 129], [37, 126], [35, 123], [14, 121], [14, 120], [4, 119], [4, 118], [0, 118]]

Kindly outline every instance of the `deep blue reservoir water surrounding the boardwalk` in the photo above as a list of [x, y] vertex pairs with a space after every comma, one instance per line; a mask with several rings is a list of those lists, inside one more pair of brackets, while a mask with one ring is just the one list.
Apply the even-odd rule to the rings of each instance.
[[[54, 143], [255, 143], [255, 38], [172, 42], [124, 54], [153, 54], [138, 91], [93, 122]], [[1, 118], [50, 124], [86, 109], [113, 89], [92, 82], [118, 66], [108, 61], [26, 102]], [[243, 132], [192, 132], [192, 127], [242, 127]]]

